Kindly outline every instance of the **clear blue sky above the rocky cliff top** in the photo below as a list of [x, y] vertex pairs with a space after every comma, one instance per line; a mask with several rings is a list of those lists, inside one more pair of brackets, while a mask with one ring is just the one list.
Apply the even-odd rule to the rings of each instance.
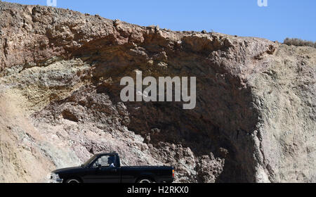
[[[46, 5], [46, 0], [7, 1]], [[213, 30], [279, 42], [286, 37], [316, 41], [315, 0], [268, 0], [268, 7], [259, 7], [257, 0], [57, 0], [57, 6], [171, 30]]]

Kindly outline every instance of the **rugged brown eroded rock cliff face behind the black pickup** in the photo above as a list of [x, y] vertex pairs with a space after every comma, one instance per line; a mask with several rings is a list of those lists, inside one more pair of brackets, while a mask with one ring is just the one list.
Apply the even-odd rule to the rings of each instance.
[[[111, 151], [173, 165], [177, 182], [316, 182], [315, 49], [44, 6], [0, 15], [0, 182]], [[196, 108], [123, 103], [136, 70], [197, 77]]]

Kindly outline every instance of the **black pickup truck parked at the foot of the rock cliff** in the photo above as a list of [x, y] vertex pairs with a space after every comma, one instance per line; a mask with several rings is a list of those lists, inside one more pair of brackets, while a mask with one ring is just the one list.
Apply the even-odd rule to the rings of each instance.
[[117, 153], [93, 155], [79, 167], [55, 170], [51, 183], [172, 183], [174, 168], [168, 166], [122, 166]]

